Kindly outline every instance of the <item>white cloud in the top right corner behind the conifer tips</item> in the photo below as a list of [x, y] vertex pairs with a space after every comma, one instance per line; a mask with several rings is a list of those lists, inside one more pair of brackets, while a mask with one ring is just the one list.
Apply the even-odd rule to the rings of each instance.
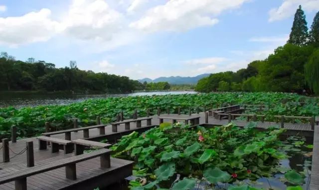
[[300, 4], [306, 11], [317, 11], [319, 9], [318, 0], [284, 0], [279, 7], [272, 8], [269, 11], [269, 21], [282, 20], [294, 15]]

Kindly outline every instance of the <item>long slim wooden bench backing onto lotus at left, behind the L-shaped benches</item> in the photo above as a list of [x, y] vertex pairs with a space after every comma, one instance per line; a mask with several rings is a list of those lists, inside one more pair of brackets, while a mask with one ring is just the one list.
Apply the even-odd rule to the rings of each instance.
[[100, 130], [100, 135], [105, 135], [105, 127], [107, 125], [93, 125], [89, 127], [80, 127], [80, 128], [75, 128], [75, 129], [67, 129], [67, 130], [62, 130], [62, 131], [54, 131], [54, 132], [49, 132], [49, 133], [42, 133], [42, 135], [50, 137], [51, 135], [58, 135], [58, 134], [65, 134], [65, 140], [71, 140], [71, 132], [78, 132], [78, 131], [83, 131], [83, 138], [89, 138], [89, 129], [95, 129], [98, 128]]

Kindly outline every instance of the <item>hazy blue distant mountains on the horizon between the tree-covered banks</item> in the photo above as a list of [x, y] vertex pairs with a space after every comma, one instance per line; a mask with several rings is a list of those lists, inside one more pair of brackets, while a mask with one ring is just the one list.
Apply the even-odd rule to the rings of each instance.
[[209, 76], [210, 74], [205, 73], [194, 77], [181, 77], [181, 76], [170, 76], [170, 77], [159, 77], [154, 80], [150, 78], [140, 79], [139, 81], [143, 83], [146, 81], [147, 83], [150, 82], [168, 82], [169, 84], [196, 84], [198, 80]]

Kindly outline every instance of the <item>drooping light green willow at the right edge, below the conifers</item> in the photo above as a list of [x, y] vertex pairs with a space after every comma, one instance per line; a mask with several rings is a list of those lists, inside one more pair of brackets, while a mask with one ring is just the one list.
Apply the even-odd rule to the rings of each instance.
[[305, 78], [309, 87], [319, 94], [319, 49], [311, 55], [305, 65]]

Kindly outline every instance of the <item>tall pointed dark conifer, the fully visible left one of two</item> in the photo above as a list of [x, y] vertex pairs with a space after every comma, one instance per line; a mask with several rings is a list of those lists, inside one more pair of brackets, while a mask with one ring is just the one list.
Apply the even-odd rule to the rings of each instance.
[[299, 5], [296, 11], [293, 27], [291, 28], [291, 33], [287, 43], [292, 43], [295, 45], [305, 45], [308, 39], [308, 27], [306, 21], [306, 15], [304, 10]]

